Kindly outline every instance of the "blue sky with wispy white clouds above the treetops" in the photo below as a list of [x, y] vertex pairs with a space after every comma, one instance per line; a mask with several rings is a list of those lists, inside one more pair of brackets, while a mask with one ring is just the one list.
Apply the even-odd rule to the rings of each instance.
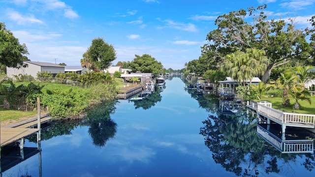
[[149, 54], [181, 69], [199, 58], [219, 15], [264, 3], [269, 17], [295, 17], [299, 28], [315, 15], [315, 0], [0, 0], [0, 22], [32, 61], [80, 65], [101, 37], [116, 50], [114, 65]]

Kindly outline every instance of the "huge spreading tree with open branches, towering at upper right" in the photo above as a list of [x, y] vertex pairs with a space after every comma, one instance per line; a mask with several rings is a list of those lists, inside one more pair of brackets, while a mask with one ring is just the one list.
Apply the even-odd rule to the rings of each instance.
[[[311, 46], [306, 37], [313, 31], [295, 29], [294, 18], [289, 22], [282, 19], [268, 19], [264, 9], [267, 5], [232, 11], [221, 15], [215, 21], [218, 29], [207, 35], [208, 43], [202, 48], [208, 62], [219, 67], [224, 57], [236, 51], [246, 52], [248, 48], [261, 49], [269, 60], [262, 80], [266, 82], [271, 70], [292, 60], [308, 59]], [[245, 19], [252, 17], [252, 22]]]

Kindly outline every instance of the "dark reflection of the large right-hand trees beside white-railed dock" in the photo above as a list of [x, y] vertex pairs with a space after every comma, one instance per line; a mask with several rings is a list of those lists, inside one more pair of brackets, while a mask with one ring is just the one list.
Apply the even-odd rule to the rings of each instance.
[[[213, 152], [216, 163], [237, 176], [258, 177], [261, 173], [295, 173], [291, 166], [305, 156], [303, 165], [312, 171], [314, 154], [282, 154], [256, 134], [256, 121], [251, 115], [210, 115], [203, 121], [200, 134]], [[283, 163], [283, 164], [281, 164]], [[262, 172], [263, 171], [263, 172]]]

